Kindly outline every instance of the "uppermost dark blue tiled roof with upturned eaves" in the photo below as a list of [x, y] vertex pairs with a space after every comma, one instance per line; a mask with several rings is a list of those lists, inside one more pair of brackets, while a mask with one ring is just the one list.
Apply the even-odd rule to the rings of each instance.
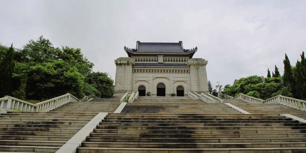
[[198, 48], [184, 49], [182, 41], [178, 43], [141, 43], [137, 41], [135, 49], [127, 47], [124, 49], [132, 54], [190, 54]]

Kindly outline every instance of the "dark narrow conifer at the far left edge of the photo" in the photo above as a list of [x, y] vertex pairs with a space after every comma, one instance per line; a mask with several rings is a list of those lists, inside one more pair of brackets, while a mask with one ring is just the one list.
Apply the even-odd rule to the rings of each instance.
[[11, 95], [12, 74], [14, 71], [14, 48], [13, 43], [6, 51], [6, 55], [0, 61], [0, 97]]

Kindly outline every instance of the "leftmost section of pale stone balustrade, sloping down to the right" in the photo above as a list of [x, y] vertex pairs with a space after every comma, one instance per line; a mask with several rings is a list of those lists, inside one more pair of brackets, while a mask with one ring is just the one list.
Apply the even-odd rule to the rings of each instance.
[[15, 111], [29, 111], [29, 112], [36, 111], [35, 104], [11, 96], [5, 96], [4, 98], [1, 98], [0, 102], [1, 102], [0, 110], [15, 110]]

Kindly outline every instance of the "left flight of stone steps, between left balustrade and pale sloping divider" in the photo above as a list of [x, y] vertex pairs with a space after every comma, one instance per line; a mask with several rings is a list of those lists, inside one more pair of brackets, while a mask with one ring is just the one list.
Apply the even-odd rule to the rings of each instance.
[[49, 112], [0, 115], [0, 151], [56, 152], [99, 112], [114, 112], [121, 97], [70, 102]]

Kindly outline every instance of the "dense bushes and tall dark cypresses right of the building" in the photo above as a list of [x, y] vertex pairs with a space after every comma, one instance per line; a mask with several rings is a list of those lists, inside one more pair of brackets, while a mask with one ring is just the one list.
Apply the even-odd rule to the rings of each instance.
[[[285, 54], [284, 74], [280, 75], [275, 65], [274, 73], [267, 78], [263, 76], [249, 76], [235, 80], [232, 86], [226, 86], [223, 94], [236, 96], [240, 93], [260, 99], [269, 99], [276, 95], [293, 97], [306, 100], [306, 59], [304, 52], [300, 54], [301, 61], [291, 66], [287, 54]], [[270, 76], [270, 77], [269, 77]]]

